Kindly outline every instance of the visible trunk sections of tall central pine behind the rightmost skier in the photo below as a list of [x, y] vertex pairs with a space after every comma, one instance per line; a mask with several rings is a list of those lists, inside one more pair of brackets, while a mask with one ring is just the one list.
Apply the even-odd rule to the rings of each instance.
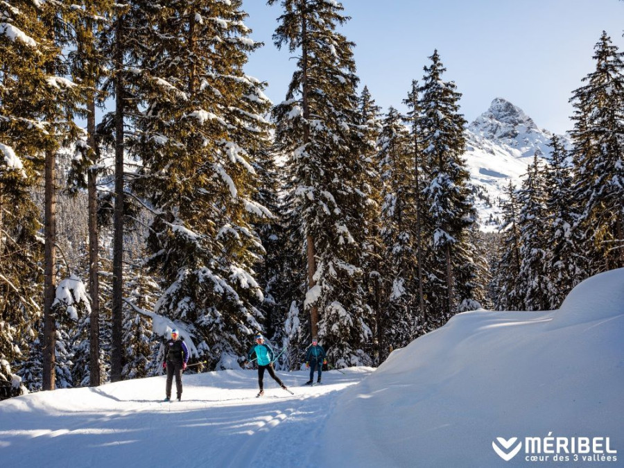
[[[310, 130], [308, 122], [310, 118], [310, 106], [308, 103], [308, 44], [307, 44], [307, 19], [306, 19], [306, 1], [302, 0], [302, 107], [304, 116], [304, 146], [310, 143]], [[306, 234], [306, 242], [308, 245], [308, 290], [315, 286], [314, 274], [316, 272], [316, 252], [314, 248], [314, 238], [308, 228]], [[310, 327], [312, 336], [318, 336], [318, 306], [314, 304], [310, 309]]]

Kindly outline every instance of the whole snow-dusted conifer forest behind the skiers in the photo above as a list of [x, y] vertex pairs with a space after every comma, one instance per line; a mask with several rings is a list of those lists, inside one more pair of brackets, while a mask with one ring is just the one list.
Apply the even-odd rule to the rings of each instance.
[[[480, 229], [458, 86], [433, 50], [382, 112], [333, 0], [0, 0], [0, 399], [243, 365], [318, 336], [331, 368], [479, 308], [557, 309], [624, 267], [624, 62], [607, 33], [556, 135]], [[283, 101], [243, 71], [296, 62]], [[191, 369], [189, 369], [191, 371]]]

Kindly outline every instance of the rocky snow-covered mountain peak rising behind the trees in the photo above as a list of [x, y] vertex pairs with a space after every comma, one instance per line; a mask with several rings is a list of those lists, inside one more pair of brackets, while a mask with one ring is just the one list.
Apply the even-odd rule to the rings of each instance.
[[[519, 187], [534, 155], [547, 158], [553, 133], [540, 130], [523, 110], [503, 98], [492, 101], [466, 130], [465, 159], [471, 181], [481, 189], [477, 200], [481, 228], [499, 227], [499, 198], [509, 181]], [[568, 144], [568, 137], [562, 136]]]

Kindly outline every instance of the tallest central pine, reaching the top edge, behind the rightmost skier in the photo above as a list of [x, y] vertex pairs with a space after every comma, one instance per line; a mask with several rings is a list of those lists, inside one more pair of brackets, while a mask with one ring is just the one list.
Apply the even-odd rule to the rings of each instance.
[[[269, 4], [277, 0], [269, 0]], [[308, 261], [311, 334], [333, 365], [372, 363], [372, 331], [363, 302], [363, 146], [358, 129], [354, 44], [336, 32], [347, 21], [338, 1], [281, 0], [273, 36], [278, 48], [300, 49], [286, 101], [274, 109], [275, 141], [298, 183], [297, 214]]]

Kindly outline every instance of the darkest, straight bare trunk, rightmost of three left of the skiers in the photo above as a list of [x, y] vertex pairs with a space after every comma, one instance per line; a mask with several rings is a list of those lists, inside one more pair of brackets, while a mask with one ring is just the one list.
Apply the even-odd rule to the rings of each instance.
[[123, 16], [119, 17], [115, 31], [115, 210], [113, 219], [113, 284], [112, 284], [112, 343], [110, 379], [121, 380], [123, 346]]

